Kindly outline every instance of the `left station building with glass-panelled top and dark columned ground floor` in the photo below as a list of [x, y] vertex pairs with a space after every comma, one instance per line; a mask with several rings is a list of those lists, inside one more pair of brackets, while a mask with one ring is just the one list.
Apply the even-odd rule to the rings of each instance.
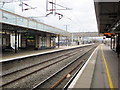
[[[46, 49], [56, 47], [55, 39], [69, 36], [62, 29], [0, 9], [2, 50]], [[59, 47], [59, 45], [58, 45]]]

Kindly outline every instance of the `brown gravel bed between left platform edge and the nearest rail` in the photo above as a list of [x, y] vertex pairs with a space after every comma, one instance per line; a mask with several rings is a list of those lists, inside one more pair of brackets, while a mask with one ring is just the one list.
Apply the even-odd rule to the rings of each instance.
[[[7, 74], [22, 70], [22, 69], [27, 68], [27, 67], [29, 68], [30, 66], [34, 66], [34, 65], [37, 65], [37, 64], [40, 64], [40, 63], [44, 63], [44, 62], [50, 61], [50, 60], [55, 59], [55, 58], [59, 58], [60, 56], [62, 56], [64, 54], [72, 52], [72, 51], [70, 51], [70, 52], [68, 52], [68, 51], [67, 52], [63, 51], [62, 54], [61, 54], [61, 52], [56, 52], [56, 54], [52, 54], [52, 55], [47, 54], [47, 55], [42, 55], [42, 56], [41, 55], [40, 56], [33, 56], [33, 57], [16, 59], [14, 61], [8, 61], [8, 62], [5, 62], [5, 63], [2, 63], [3, 72], [2, 72], [1, 76], [5, 76]], [[9, 66], [9, 67], [7, 67], [7, 66]], [[17, 68], [16, 66], [17, 67], [19, 66], [19, 68]]]

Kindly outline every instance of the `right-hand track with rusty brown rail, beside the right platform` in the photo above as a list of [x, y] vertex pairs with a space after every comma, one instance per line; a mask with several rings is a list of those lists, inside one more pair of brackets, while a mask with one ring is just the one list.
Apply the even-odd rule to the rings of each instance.
[[[95, 48], [95, 47], [94, 47]], [[82, 68], [86, 60], [79, 60], [81, 57], [85, 56], [87, 53], [91, 54], [91, 48], [87, 52], [83, 53], [81, 56], [76, 57], [73, 61], [68, 63], [66, 66], [55, 72], [53, 75], [45, 79], [44, 81], [40, 82], [36, 86], [32, 88], [32, 90], [40, 89], [40, 88], [63, 88], [65, 85], [61, 85], [63, 81], [67, 80], [66, 83], [69, 81], [71, 75], [73, 75], [79, 68]]]

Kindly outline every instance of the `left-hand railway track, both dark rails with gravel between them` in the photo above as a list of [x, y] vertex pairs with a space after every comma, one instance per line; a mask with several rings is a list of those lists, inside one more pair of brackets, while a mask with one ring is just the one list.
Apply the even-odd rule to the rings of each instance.
[[[89, 46], [90, 47], [90, 46]], [[88, 48], [88, 47], [84, 47], [84, 48]], [[81, 49], [82, 50], [82, 49]], [[74, 52], [74, 53], [73, 53]], [[32, 66], [29, 66], [29, 67], [25, 67], [23, 69], [20, 69], [20, 70], [17, 70], [17, 71], [13, 71], [13, 72], [10, 72], [10, 73], [7, 73], [7, 74], [4, 74], [2, 75], [2, 78], [3, 78], [3, 83], [2, 83], [2, 87], [3, 88], [9, 88], [9, 84], [14, 84], [14, 83], [17, 83], [17, 81], [20, 81], [21, 79], [24, 79], [25, 77], [28, 77], [34, 73], [37, 73], [39, 71], [42, 71], [48, 67], [51, 67], [55, 64], [58, 64], [58, 63], [61, 63], [63, 61], [65, 61], [66, 59], [69, 59], [73, 56], [78, 56], [77, 53], [80, 53], [80, 48], [77, 49], [77, 50], [73, 50], [71, 52], [67, 52], [66, 54], [62, 54], [62, 55], [59, 55], [57, 57], [54, 57], [54, 58], [51, 58], [51, 59], [48, 59], [46, 61], [43, 61], [43, 62], [40, 62], [40, 63], [37, 63], [35, 65], [32, 65]], [[83, 53], [81, 53], [83, 54]], [[80, 55], [80, 54], [79, 54]], [[59, 59], [58, 59], [59, 58]], [[35, 67], [39, 67], [37, 69], [35, 69]], [[29, 71], [30, 69], [34, 68], [31, 72], [27, 72], [27, 73], [24, 73], [26, 71]], [[24, 73], [24, 74], [20, 74], [20, 73]], [[14, 74], [15, 73], [18, 73], [18, 76], [15, 76], [15, 78], [13, 79], [9, 79], [11, 78], [12, 76], [14, 77]], [[52, 74], [53, 75], [53, 74]], [[49, 75], [50, 76], [50, 75]], [[8, 78], [9, 77], [9, 78]], [[37, 83], [38, 85], [38, 83]], [[32, 87], [35, 87], [35, 85], [33, 85]], [[30, 88], [32, 88], [30, 87]]]

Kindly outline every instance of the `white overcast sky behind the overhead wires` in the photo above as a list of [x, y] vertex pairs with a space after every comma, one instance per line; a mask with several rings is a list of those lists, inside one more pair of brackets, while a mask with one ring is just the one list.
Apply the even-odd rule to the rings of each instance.
[[[51, 1], [51, 0], [49, 0]], [[44, 17], [49, 12], [46, 12], [46, 0], [28, 0], [24, 3], [29, 4], [36, 9], [21, 11], [18, 3], [14, 3], [15, 12], [26, 17], [39, 17], [41, 22], [55, 26], [57, 28], [66, 29], [69, 32], [97, 32], [96, 16], [94, 11], [93, 0], [56, 0], [57, 4], [71, 8], [72, 10], [56, 11], [63, 14], [63, 18], [59, 20], [58, 15], [49, 15]], [[8, 5], [8, 4], [6, 4]], [[27, 8], [27, 7], [24, 7]], [[49, 5], [50, 8], [50, 5]], [[62, 9], [57, 6], [57, 9]]]

